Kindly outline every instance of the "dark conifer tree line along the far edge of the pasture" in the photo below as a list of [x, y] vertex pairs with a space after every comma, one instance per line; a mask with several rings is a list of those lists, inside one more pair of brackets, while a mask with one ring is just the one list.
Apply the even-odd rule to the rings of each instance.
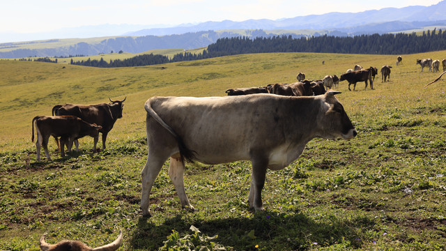
[[293, 38], [290, 36], [271, 36], [268, 38], [220, 38], [210, 44], [203, 53], [184, 52], [167, 56], [144, 54], [130, 59], [71, 61], [71, 64], [94, 67], [150, 66], [161, 63], [209, 59], [217, 56], [230, 56], [249, 53], [270, 52], [320, 52], [340, 54], [414, 54], [446, 50], [446, 31], [414, 33], [372, 34], [353, 37], [312, 36]]

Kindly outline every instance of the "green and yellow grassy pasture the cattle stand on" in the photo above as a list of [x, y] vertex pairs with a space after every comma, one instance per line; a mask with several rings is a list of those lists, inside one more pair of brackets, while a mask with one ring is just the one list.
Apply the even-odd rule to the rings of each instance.
[[[420, 73], [402, 55], [248, 54], [137, 68], [87, 68], [0, 61], [0, 250], [38, 250], [38, 239], [79, 239], [98, 246], [124, 232], [121, 250], [157, 250], [172, 230], [191, 240], [191, 225], [228, 250], [445, 250], [445, 80]], [[322, 65], [322, 61], [325, 64]], [[151, 194], [152, 218], [141, 218], [140, 172], [146, 162], [144, 102], [151, 96], [224, 96], [233, 87], [341, 75], [355, 64], [393, 66], [390, 82], [338, 99], [355, 124], [350, 141], [314, 139], [302, 156], [268, 172], [266, 211], [247, 207], [249, 162], [187, 165], [185, 188], [199, 209], [180, 209], [167, 174]], [[353, 87], [353, 86], [352, 86]], [[36, 162], [31, 120], [65, 102], [93, 104], [127, 97], [107, 149]], [[224, 140], [224, 139], [222, 139]], [[45, 160], [45, 158], [43, 158]]]

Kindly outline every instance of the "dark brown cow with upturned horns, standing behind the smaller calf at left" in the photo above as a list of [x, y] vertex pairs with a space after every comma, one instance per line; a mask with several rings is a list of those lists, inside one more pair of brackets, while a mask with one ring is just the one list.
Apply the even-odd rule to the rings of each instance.
[[[52, 109], [53, 115], [72, 115], [77, 116], [89, 123], [95, 123], [98, 126], [102, 126], [102, 149], [105, 149], [105, 141], [107, 140], [107, 134], [112, 130], [114, 123], [117, 119], [123, 117], [124, 100], [112, 101], [100, 103], [97, 105], [55, 105]], [[99, 136], [94, 138], [93, 151], [96, 151], [96, 144], [98, 144]], [[75, 141], [76, 148], [78, 147], [77, 141]]]

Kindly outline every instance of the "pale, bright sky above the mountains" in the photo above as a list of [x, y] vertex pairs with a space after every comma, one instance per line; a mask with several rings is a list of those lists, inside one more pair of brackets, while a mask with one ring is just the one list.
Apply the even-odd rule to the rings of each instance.
[[[176, 26], [330, 12], [431, 6], [440, 0], [11, 0], [1, 4], [0, 33], [38, 33], [98, 24]], [[0, 38], [1, 40], [1, 38]]]

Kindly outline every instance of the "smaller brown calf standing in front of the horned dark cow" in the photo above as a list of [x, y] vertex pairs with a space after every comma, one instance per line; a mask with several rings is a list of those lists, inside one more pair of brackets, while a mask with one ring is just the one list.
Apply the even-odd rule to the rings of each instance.
[[[101, 126], [87, 123], [76, 116], [36, 116], [32, 121], [33, 137], [31, 141], [34, 142], [34, 124], [36, 124], [36, 148], [37, 161], [40, 161], [40, 146], [43, 145], [47, 159], [51, 160], [48, 153], [48, 139], [50, 136], [56, 138], [61, 137], [61, 156], [65, 155], [63, 146], [67, 143], [68, 151], [71, 150], [72, 141], [79, 139], [86, 135], [91, 137], [98, 137]], [[70, 140], [70, 142], [67, 142]], [[58, 142], [59, 147], [59, 142]]]

